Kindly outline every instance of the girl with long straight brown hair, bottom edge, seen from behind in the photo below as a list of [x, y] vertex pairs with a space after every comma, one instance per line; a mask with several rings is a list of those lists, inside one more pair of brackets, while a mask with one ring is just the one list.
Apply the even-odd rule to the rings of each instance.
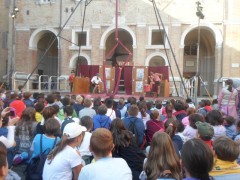
[[167, 133], [158, 131], [153, 135], [144, 171], [148, 180], [181, 179], [180, 160]]

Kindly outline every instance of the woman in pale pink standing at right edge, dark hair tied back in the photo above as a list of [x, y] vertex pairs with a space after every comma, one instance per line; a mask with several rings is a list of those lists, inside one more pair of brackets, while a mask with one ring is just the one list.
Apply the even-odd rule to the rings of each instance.
[[225, 84], [226, 87], [220, 91], [220, 94], [218, 96], [218, 107], [223, 113], [224, 117], [232, 116], [235, 119], [238, 119], [238, 91], [233, 88], [232, 79], [226, 80]]

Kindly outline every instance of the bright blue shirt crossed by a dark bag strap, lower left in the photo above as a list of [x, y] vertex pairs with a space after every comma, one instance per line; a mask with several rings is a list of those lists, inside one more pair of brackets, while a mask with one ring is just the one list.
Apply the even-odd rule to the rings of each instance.
[[[41, 139], [41, 134], [37, 134], [33, 140], [32, 147], [31, 147], [31, 150], [33, 150], [32, 158], [34, 158], [40, 154], [40, 139]], [[59, 141], [60, 141], [60, 138], [57, 137], [56, 144]], [[53, 148], [54, 142], [55, 142], [55, 138], [50, 138], [43, 134], [43, 136], [42, 136], [42, 152], [44, 152], [48, 148], [51, 151]], [[48, 154], [50, 151], [47, 150], [45, 152], [45, 154]]]

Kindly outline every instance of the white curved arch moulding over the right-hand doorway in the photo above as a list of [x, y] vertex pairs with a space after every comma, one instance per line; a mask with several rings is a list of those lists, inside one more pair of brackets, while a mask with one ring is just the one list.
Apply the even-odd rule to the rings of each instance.
[[[218, 28], [216, 28], [213, 24], [211, 23], [200, 23], [200, 27], [202, 29], [206, 29], [206, 30], [209, 30], [214, 38], [215, 38], [215, 42], [216, 42], [216, 47], [222, 47], [222, 43], [223, 43], [223, 37], [222, 37], [222, 33], [220, 32], [220, 30]], [[181, 41], [180, 41], [180, 48], [184, 48], [184, 40], [187, 36], [187, 34], [194, 30], [194, 29], [197, 29], [198, 28], [198, 24], [192, 24], [190, 25], [187, 29], [185, 29], [185, 31], [183, 32], [182, 34], [182, 37], [181, 37]]]

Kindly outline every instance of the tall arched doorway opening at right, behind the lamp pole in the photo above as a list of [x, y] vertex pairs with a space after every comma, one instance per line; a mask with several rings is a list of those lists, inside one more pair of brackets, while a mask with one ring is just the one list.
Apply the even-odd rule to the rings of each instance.
[[[196, 74], [197, 43], [198, 29], [196, 27], [188, 32], [184, 39], [183, 76], [185, 78], [191, 78]], [[201, 26], [198, 72], [211, 95], [214, 93], [215, 46], [216, 41], [212, 31], [207, 27]], [[207, 92], [200, 81], [198, 84], [198, 95], [207, 96]]]

